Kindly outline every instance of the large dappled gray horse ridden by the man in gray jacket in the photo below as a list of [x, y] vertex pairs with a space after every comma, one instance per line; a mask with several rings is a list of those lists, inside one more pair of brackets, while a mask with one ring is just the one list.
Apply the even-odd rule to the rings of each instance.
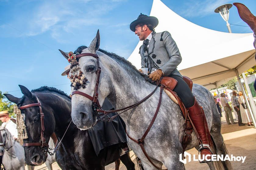
[[[104, 99], [108, 98], [115, 108], [123, 108], [137, 103], [155, 89], [156, 86], [146, 81], [130, 62], [116, 54], [108, 53], [102, 49], [98, 50], [99, 45], [100, 35], [97, 32], [96, 37], [88, 48], [83, 46], [83, 48], [76, 50], [76, 52], [80, 50], [78, 53], [97, 53], [99, 56], [99, 65], [101, 67], [98, 86], [99, 104], [102, 105]], [[62, 55], [66, 59], [69, 57], [68, 53], [62, 52]], [[98, 69], [97, 60], [92, 56], [84, 56], [79, 58], [78, 63], [78, 67], [80, 67], [87, 82], [85, 88], [78, 88], [77, 91], [93, 96], [97, 79], [95, 74]], [[72, 88], [72, 91], [74, 91], [74, 88]], [[132, 138], [140, 139], [146, 131], [155, 114], [159, 93], [160, 90], [158, 88], [144, 103], [120, 115], [126, 124], [127, 133]], [[221, 121], [219, 112], [212, 94], [198, 84], [194, 84], [193, 94], [198, 103], [204, 108], [214, 141], [214, 152], [226, 155], [226, 146], [220, 132]], [[93, 127], [96, 124], [96, 116], [93, 114], [91, 100], [79, 94], [74, 94], [71, 101], [71, 116], [76, 126], [81, 130]], [[145, 151], [159, 168], [164, 164], [169, 170], [185, 169], [184, 164], [179, 161], [179, 155], [182, 153], [181, 143], [184, 128], [185, 120], [179, 106], [170, 100], [167, 94], [163, 93], [158, 116], [144, 140]], [[134, 153], [142, 160], [144, 169], [156, 169], [148, 161], [138, 144], [129, 138], [128, 143]], [[192, 142], [187, 146], [187, 150], [194, 147], [198, 147], [198, 141], [195, 135], [192, 134]], [[229, 161], [214, 162], [208, 162], [210, 169], [231, 169]]]

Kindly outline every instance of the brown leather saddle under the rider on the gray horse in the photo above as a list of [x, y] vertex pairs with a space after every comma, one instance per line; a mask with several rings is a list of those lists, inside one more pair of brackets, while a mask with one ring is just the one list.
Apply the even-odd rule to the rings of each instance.
[[[183, 80], [187, 83], [188, 87], [192, 91], [193, 87], [193, 82], [190, 78], [183, 76]], [[188, 116], [188, 111], [182, 101], [180, 100], [180, 97], [173, 91], [173, 89], [177, 85], [177, 80], [175, 80], [172, 77], [163, 77], [160, 83], [164, 86], [164, 91], [165, 93], [176, 103], [180, 106], [180, 110], [183, 114], [183, 117], [185, 119], [185, 132], [183, 134], [183, 139], [182, 139], [182, 148], [183, 148], [183, 153], [187, 148], [187, 145], [192, 141], [192, 132], [193, 132], [193, 127], [190, 121], [190, 118]]]

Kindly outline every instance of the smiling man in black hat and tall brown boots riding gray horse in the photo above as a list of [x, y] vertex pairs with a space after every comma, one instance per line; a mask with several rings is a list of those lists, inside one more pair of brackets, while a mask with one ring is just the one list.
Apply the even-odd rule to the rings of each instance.
[[[177, 85], [173, 89], [180, 97], [188, 110], [195, 131], [199, 134], [199, 152], [201, 158], [204, 155], [212, 155], [210, 146], [212, 140], [205, 119], [204, 110], [197, 103], [189, 86], [183, 80], [183, 76], [177, 70], [181, 63], [180, 51], [168, 31], [156, 33], [154, 28], [158, 25], [158, 19], [153, 16], [140, 14], [139, 17], [130, 24], [130, 29], [135, 32], [139, 39], [143, 40], [140, 47], [141, 67], [148, 67], [149, 78], [159, 81], [162, 76], [172, 77], [177, 80]], [[142, 72], [142, 70], [139, 70]], [[203, 160], [200, 163], [207, 162]]]

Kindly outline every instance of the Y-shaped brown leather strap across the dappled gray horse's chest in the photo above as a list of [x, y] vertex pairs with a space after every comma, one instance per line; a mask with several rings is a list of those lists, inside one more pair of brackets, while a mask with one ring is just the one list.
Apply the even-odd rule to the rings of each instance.
[[127, 133], [126, 129], [125, 129], [125, 132], [126, 132], [128, 138], [130, 138], [132, 141], [134, 141], [135, 143], [137, 143], [137, 144], [140, 145], [140, 148], [141, 148], [142, 152], [144, 153], [144, 155], [146, 156], [146, 158], [148, 159], [148, 161], [149, 161], [155, 168], [157, 168], [157, 169], [159, 169], [159, 170], [167, 170], [167, 169], [158, 168], [158, 166], [156, 166], [156, 165], [153, 163], [153, 161], [150, 159], [150, 157], [148, 156], [147, 152], [146, 152], [145, 149], [144, 149], [144, 139], [146, 138], [148, 132], [150, 131], [150, 129], [151, 129], [152, 125], [154, 124], [155, 119], [156, 119], [156, 117], [157, 117], [157, 114], [158, 114], [158, 111], [159, 111], [159, 108], [160, 108], [161, 102], [162, 102], [162, 93], [163, 93], [163, 86], [160, 87], [160, 97], [159, 97], [157, 109], [156, 109], [156, 111], [155, 111], [155, 115], [154, 115], [154, 117], [152, 118], [152, 120], [151, 120], [151, 122], [150, 122], [150, 124], [149, 124], [147, 130], [146, 130], [145, 133], [143, 134], [143, 136], [142, 136], [140, 139], [136, 140], [136, 139], [132, 138], [132, 137]]

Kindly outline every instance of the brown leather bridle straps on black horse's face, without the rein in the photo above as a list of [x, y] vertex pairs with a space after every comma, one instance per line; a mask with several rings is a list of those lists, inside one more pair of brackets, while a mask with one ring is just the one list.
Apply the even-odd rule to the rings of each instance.
[[23, 147], [25, 147], [25, 146], [41, 146], [41, 148], [48, 147], [48, 144], [45, 142], [45, 138], [44, 138], [44, 113], [42, 111], [42, 107], [41, 107], [41, 103], [40, 103], [39, 99], [37, 98], [37, 103], [32, 103], [32, 104], [27, 104], [27, 105], [21, 106], [21, 107], [19, 107], [19, 109], [23, 110], [23, 109], [27, 109], [29, 107], [35, 107], [35, 106], [38, 106], [40, 109], [41, 140], [39, 142], [34, 142], [34, 143], [24, 143]]

